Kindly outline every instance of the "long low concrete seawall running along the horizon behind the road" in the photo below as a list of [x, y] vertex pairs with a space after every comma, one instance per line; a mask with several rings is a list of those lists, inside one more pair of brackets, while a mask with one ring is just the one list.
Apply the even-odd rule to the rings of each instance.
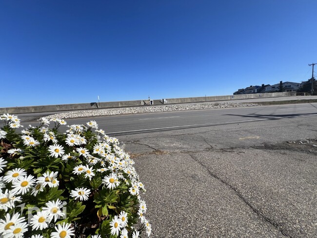
[[[205, 102], [205, 101], [210, 102], [210, 101], [238, 100], [238, 99], [275, 98], [275, 97], [289, 97], [289, 96], [296, 96], [296, 92], [164, 99], [164, 102], [163, 102], [163, 99], [156, 99], [156, 100], [153, 100], [152, 105]], [[97, 109], [97, 108], [144, 106], [149, 104], [150, 104], [149, 100], [146, 99], [146, 100], [133, 100], [133, 101], [109, 101], [109, 102], [100, 102], [100, 103], [91, 102], [91, 103], [59, 104], [59, 105], [46, 105], [46, 106], [4, 107], [4, 108], [0, 108], [0, 114], [75, 111], [75, 110], [87, 110], [87, 109]]]

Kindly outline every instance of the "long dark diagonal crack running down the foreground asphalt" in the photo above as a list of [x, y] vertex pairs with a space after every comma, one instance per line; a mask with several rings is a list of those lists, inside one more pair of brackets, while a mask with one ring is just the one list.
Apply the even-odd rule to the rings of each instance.
[[196, 161], [196, 162], [197, 162], [198, 164], [200, 164], [203, 168], [205, 168], [205, 169], [208, 171], [208, 173], [209, 173], [210, 176], [212, 176], [213, 178], [219, 180], [219, 181], [222, 182], [223, 184], [227, 185], [232, 191], [234, 191], [235, 194], [237, 194], [237, 196], [238, 196], [247, 206], [249, 206], [249, 207], [252, 209], [252, 211], [257, 214], [257, 216], [258, 216], [259, 218], [261, 218], [262, 220], [264, 220], [264, 221], [268, 222], [269, 224], [273, 225], [283, 236], [291, 238], [291, 236], [288, 235], [285, 230], [283, 230], [283, 229], [280, 228], [280, 226], [278, 225], [277, 222], [275, 222], [275, 221], [271, 220], [270, 218], [264, 216], [264, 214], [262, 214], [260, 211], [258, 211], [258, 209], [256, 209], [255, 207], [253, 207], [252, 204], [251, 204], [249, 201], [247, 201], [246, 198], [244, 198], [244, 197], [239, 193], [239, 191], [238, 191], [237, 188], [233, 187], [233, 186], [232, 186], [231, 184], [229, 184], [228, 182], [224, 181], [223, 179], [220, 179], [217, 175], [213, 174], [213, 173], [207, 168], [206, 165], [204, 165], [203, 163], [201, 163], [201, 162], [200, 162], [198, 159], [196, 159], [193, 155], [191, 155], [190, 153], [187, 153], [187, 154], [188, 154], [194, 161]]

